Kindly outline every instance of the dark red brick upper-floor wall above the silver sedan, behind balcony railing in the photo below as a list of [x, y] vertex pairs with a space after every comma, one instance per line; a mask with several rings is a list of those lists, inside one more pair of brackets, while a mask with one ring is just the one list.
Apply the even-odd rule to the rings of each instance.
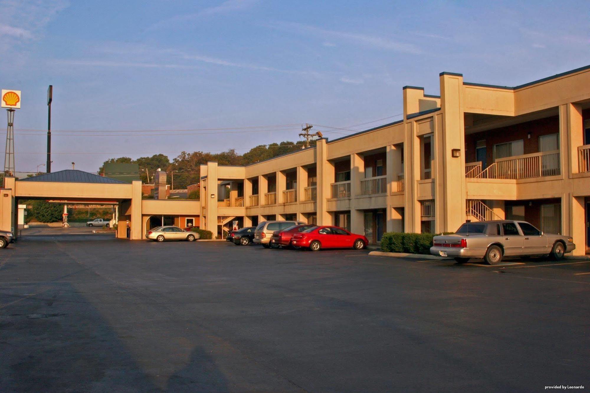
[[[530, 132], [530, 138], [528, 134]], [[487, 165], [493, 163], [494, 145], [522, 139], [525, 154], [539, 152], [539, 136], [559, 133], [559, 116], [532, 120], [465, 136], [466, 162], [476, 161], [476, 143], [486, 140]]]

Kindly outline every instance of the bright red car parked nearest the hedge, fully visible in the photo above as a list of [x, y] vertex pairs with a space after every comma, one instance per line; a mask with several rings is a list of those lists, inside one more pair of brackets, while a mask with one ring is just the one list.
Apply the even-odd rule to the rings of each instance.
[[350, 233], [338, 227], [313, 227], [293, 234], [291, 245], [294, 247], [309, 247], [312, 251], [320, 248], [347, 248], [362, 250], [369, 244], [369, 240], [358, 234]]

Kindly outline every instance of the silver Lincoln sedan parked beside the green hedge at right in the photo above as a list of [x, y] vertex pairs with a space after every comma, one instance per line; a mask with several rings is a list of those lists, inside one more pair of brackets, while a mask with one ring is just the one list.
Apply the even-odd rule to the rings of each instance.
[[576, 248], [569, 236], [543, 233], [525, 221], [466, 222], [453, 235], [435, 236], [430, 253], [465, 263], [484, 258], [490, 265], [503, 257], [551, 256], [556, 260]]

